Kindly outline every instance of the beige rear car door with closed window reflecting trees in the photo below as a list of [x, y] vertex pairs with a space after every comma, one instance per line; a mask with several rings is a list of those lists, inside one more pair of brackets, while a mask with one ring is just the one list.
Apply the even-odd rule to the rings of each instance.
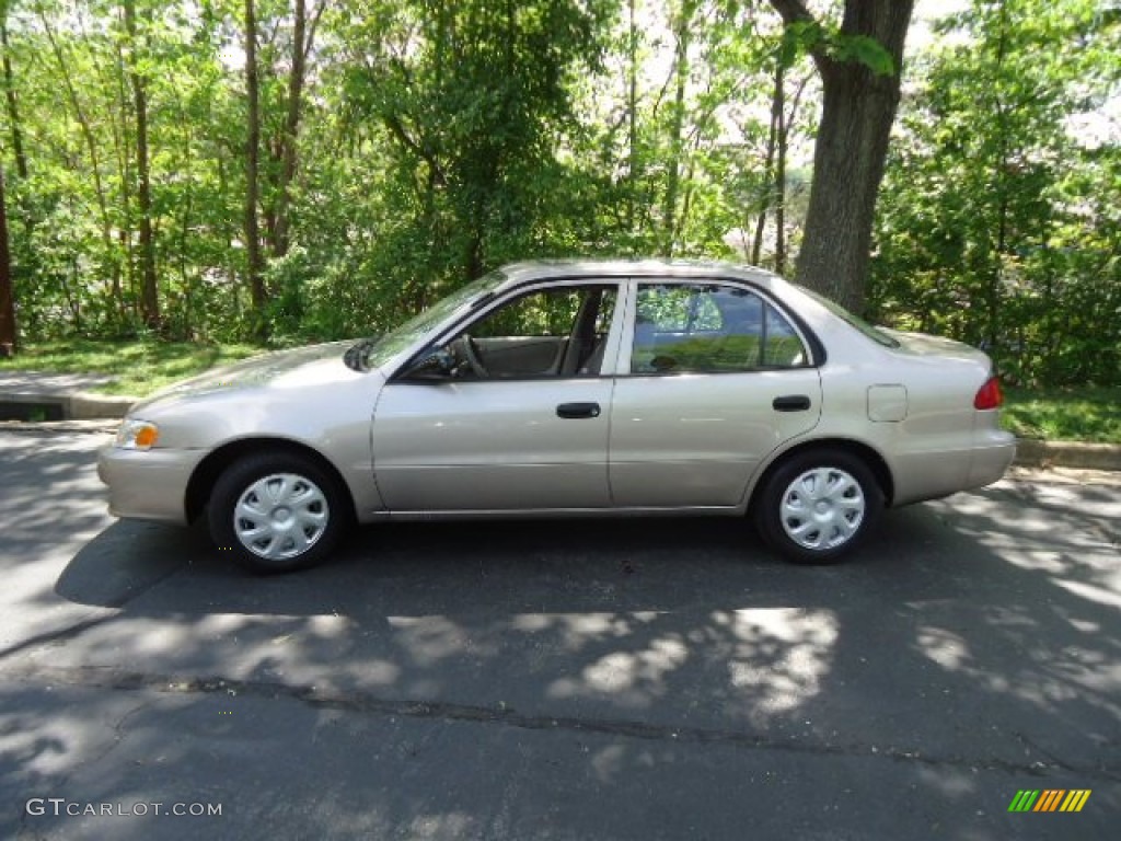
[[760, 462], [817, 424], [805, 339], [732, 281], [636, 280], [629, 295], [609, 438], [615, 505], [739, 505]]

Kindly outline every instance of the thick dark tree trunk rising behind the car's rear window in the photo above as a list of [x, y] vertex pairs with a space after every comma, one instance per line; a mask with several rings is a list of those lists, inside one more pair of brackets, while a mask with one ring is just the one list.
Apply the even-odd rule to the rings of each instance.
[[[802, 0], [771, 0], [787, 26], [816, 25]], [[822, 76], [822, 121], [797, 279], [852, 309], [864, 304], [876, 198], [899, 104], [904, 41], [914, 0], [845, 0], [844, 39], [874, 39], [892, 72], [877, 74], [839, 61], [823, 43], [812, 47]]]

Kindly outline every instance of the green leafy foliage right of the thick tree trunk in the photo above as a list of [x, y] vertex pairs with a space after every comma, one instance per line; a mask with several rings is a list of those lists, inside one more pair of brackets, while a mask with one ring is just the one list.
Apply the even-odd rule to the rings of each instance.
[[[976, 2], [921, 67], [880, 200], [876, 315], [985, 346], [1012, 382], [1121, 381], [1117, 139], [1076, 133], [1121, 74], [1088, 0]], [[962, 38], [965, 38], [963, 41]]]

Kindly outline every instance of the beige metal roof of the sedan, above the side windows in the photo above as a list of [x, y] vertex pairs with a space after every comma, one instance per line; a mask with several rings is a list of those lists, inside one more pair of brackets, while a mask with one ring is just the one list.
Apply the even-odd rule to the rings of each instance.
[[753, 266], [719, 260], [682, 259], [568, 259], [527, 260], [503, 266], [506, 280], [495, 292], [537, 280], [581, 277], [731, 278], [749, 280], [765, 288], [785, 284], [777, 275]]

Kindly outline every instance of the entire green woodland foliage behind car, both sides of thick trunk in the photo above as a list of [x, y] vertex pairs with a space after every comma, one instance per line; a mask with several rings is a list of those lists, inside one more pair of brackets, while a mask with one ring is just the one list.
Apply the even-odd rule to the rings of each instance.
[[[207, 346], [261, 321], [276, 345], [368, 335], [531, 257], [789, 267], [819, 96], [807, 54], [898, 70], [876, 41], [824, 16], [784, 27], [769, 3], [307, 0], [288, 181], [294, 6], [256, 0], [268, 303], [254, 312], [244, 3], [131, 4], [133, 29], [111, 0], [0, 7], [13, 94], [0, 99], [0, 163], [33, 344]], [[909, 65], [874, 314], [984, 343], [1016, 381], [1115, 382], [1121, 157], [1115, 136], [1088, 144], [1068, 126], [1115, 96], [1118, 16], [1093, 0], [976, 0], [939, 30], [954, 37]], [[155, 329], [140, 311], [133, 74]]]

